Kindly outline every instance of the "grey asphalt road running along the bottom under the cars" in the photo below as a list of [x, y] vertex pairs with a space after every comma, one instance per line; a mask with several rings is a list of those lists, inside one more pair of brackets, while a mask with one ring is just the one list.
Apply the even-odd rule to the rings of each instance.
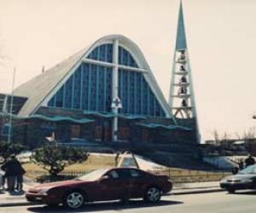
[[[236, 194], [199, 193], [187, 195], [170, 195], [162, 198], [159, 204], [144, 204], [141, 200], [131, 200], [128, 204], [119, 202], [88, 204], [81, 210], [73, 212], [142, 212], [142, 213], [254, 213], [256, 210], [256, 192], [241, 192]], [[49, 208], [44, 205], [14, 206], [0, 208], [2, 213], [23, 212], [70, 212], [62, 207]]]

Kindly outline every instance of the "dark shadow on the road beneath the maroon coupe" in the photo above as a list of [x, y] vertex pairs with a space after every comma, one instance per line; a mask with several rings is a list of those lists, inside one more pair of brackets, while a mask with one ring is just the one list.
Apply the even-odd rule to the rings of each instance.
[[91, 203], [85, 204], [83, 208], [79, 210], [68, 210], [63, 206], [58, 207], [49, 207], [49, 206], [37, 206], [37, 207], [29, 207], [27, 210], [32, 212], [93, 212], [93, 211], [104, 211], [104, 210], [125, 210], [125, 209], [137, 209], [137, 208], [147, 208], [147, 207], [159, 207], [165, 205], [173, 205], [173, 204], [183, 204], [181, 201], [169, 201], [169, 200], [161, 200], [157, 204], [147, 204], [143, 202], [143, 200], [129, 200], [127, 203], [123, 204], [120, 202], [104, 202], [104, 203]]

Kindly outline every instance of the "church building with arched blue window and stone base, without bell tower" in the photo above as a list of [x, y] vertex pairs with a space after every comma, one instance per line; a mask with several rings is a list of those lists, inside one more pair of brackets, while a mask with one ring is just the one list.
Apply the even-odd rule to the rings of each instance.
[[45, 137], [138, 147], [198, 143], [196, 118], [173, 116], [143, 52], [122, 35], [100, 38], [0, 98], [2, 139], [11, 134], [30, 147]]

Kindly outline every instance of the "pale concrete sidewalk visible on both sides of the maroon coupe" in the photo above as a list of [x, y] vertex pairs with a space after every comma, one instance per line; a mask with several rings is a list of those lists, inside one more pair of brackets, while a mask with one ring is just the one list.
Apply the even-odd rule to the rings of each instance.
[[[24, 183], [24, 190], [37, 185], [32, 181], [26, 181]], [[223, 191], [219, 187], [218, 181], [211, 182], [193, 182], [193, 183], [177, 183], [174, 185], [172, 192], [167, 195], [182, 195], [182, 194], [193, 194], [193, 193], [214, 193]], [[33, 205], [28, 203], [24, 196], [25, 193], [9, 193], [0, 191], [0, 208], [8, 206], [21, 206], [21, 205]]]

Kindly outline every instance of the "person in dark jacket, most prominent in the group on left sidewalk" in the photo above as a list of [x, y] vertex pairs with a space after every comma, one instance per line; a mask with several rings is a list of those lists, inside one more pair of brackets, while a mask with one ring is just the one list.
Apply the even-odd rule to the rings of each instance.
[[2, 165], [1, 169], [5, 171], [7, 178], [7, 190], [9, 192], [15, 191], [15, 185], [17, 176], [20, 174], [21, 164], [12, 154], [5, 164]]

